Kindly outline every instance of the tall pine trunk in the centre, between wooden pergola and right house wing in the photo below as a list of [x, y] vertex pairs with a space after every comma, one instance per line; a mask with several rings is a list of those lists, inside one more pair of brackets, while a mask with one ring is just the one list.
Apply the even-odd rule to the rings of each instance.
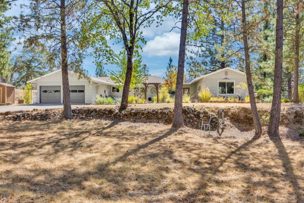
[[184, 126], [184, 119], [182, 114], [183, 109], [183, 81], [184, 81], [184, 66], [185, 66], [185, 52], [186, 52], [186, 37], [188, 25], [188, 4], [189, 0], [183, 0], [183, 13], [181, 16], [181, 38], [179, 43], [178, 54], [178, 68], [175, 88], [175, 102], [174, 102], [174, 117], [172, 127], [180, 128]]

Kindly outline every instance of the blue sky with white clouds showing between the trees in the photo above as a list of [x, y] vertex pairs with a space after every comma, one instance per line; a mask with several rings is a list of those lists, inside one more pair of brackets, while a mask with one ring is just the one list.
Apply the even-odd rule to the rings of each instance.
[[[13, 5], [12, 9], [9, 10], [6, 15], [18, 15], [20, 13], [19, 4], [23, 3], [24, 0], [19, 0], [16, 5]], [[172, 17], [164, 20], [161, 26], [156, 27], [156, 24], [152, 24], [150, 27], [143, 28], [143, 36], [147, 41], [147, 44], [143, 44], [143, 52], [140, 54], [143, 58], [143, 64], [147, 64], [151, 75], [158, 77], [164, 77], [166, 72], [166, 66], [169, 58], [173, 59], [173, 64], [178, 63], [178, 49], [179, 49], [179, 30], [170, 30], [174, 26], [174, 19]], [[13, 47], [19, 42], [18, 33], [15, 34], [16, 40], [12, 45]], [[109, 42], [108, 44], [112, 44]], [[117, 53], [120, 51], [122, 45], [116, 45], [114, 50]], [[12, 53], [12, 55], [18, 54], [20, 47]], [[94, 76], [96, 65], [93, 63], [94, 57], [88, 56], [83, 61], [83, 67], [88, 70], [89, 74]], [[186, 67], [186, 64], [185, 64]], [[105, 70], [115, 70], [117, 67], [113, 65], [106, 65]]]

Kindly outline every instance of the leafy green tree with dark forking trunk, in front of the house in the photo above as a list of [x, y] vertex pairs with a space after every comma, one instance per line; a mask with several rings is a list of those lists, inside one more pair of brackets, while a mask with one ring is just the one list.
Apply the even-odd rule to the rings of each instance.
[[108, 39], [114, 40], [116, 44], [123, 44], [123, 52], [127, 55], [127, 67], [119, 111], [125, 110], [128, 105], [134, 55], [138, 58], [140, 44], [146, 43], [141, 29], [150, 26], [156, 19], [160, 23], [162, 17], [167, 16], [171, 11], [172, 2], [172, 0], [99, 0], [89, 12], [87, 20], [82, 23], [82, 40], [91, 42], [97, 67], [112, 63], [114, 59], [115, 53], [107, 44]]

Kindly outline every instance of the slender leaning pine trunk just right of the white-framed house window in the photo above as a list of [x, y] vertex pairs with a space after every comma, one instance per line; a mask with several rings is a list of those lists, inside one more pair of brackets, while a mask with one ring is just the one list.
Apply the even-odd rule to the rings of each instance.
[[245, 0], [242, 0], [242, 23], [243, 23], [243, 40], [244, 40], [244, 52], [245, 52], [245, 69], [246, 69], [246, 78], [247, 86], [250, 97], [250, 107], [253, 117], [253, 123], [255, 128], [255, 135], [260, 136], [262, 134], [262, 126], [257, 112], [257, 105], [255, 103], [254, 91], [251, 81], [251, 72], [250, 72], [250, 57], [249, 57], [249, 48], [247, 41], [247, 25], [246, 25], [246, 14], [245, 14]]

